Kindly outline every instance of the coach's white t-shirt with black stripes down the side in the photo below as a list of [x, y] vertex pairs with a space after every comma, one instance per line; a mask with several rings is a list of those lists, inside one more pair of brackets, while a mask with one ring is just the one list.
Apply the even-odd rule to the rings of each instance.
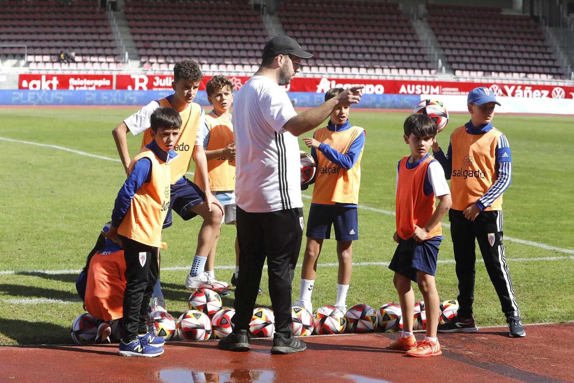
[[251, 213], [302, 208], [297, 137], [283, 126], [297, 116], [284, 87], [253, 76], [235, 93], [235, 196]]

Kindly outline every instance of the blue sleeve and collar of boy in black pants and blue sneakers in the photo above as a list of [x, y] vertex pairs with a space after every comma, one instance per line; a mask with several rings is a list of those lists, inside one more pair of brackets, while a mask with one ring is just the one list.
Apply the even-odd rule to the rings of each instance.
[[[152, 141], [145, 145], [146, 148], [152, 150], [157, 158], [164, 162], [169, 162], [177, 156], [176, 152], [170, 150], [164, 152], [157, 145], [156, 141]], [[126, 216], [127, 209], [130, 208], [131, 200], [134, 198], [135, 193], [144, 183], [150, 181], [152, 176], [152, 162], [149, 158], [141, 158], [135, 162], [133, 169], [127, 176], [126, 182], [118, 191], [118, 196], [115, 198], [114, 210], [111, 213], [111, 225], [119, 227], [123, 218]]]

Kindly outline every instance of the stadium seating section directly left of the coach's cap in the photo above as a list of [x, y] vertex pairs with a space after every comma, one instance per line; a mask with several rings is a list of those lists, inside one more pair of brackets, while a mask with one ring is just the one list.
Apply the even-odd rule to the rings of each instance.
[[253, 71], [268, 39], [249, 0], [127, 1], [124, 12], [145, 68], [191, 58], [207, 69]]

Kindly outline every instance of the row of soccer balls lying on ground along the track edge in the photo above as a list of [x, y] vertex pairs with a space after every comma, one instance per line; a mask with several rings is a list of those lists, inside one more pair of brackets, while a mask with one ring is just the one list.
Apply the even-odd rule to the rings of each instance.
[[[177, 321], [164, 310], [153, 311], [153, 332], [165, 340], [198, 341], [223, 339], [233, 331], [231, 318], [235, 311], [222, 308], [218, 293], [208, 289], [197, 289], [188, 300], [189, 311], [181, 314]], [[426, 330], [424, 302], [414, 305], [413, 330]], [[459, 304], [456, 300], [440, 304], [439, 324], [446, 323], [456, 315]], [[366, 304], [354, 305], [346, 313], [335, 306], [326, 305], [317, 309], [314, 315], [302, 307], [291, 310], [294, 336], [326, 335], [343, 333], [365, 333], [373, 331], [402, 330], [401, 306], [394, 302], [382, 305], [375, 311]], [[99, 320], [88, 313], [78, 316], [72, 323], [72, 339], [77, 344], [92, 344], [98, 332]], [[111, 325], [111, 338], [122, 338], [121, 323]], [[249, 330], [258, 338], [269, 338], [275, 332], [273, 310], [258, 307], [253, 310]]]

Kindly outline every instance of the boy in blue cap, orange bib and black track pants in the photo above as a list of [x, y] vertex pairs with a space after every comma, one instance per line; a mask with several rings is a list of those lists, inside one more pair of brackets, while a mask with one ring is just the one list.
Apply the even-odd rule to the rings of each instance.
[[433, 154], [451, 180], [452, 247], [455, 253], [456, 277], [459, 284], [459, 311], [439, 332], [475, 332], [472, 316], [475, 281], [475, 240], [480, 247], [484, 266], [506, 316], [509, 336], [521, 338], [526, 333], [520, 321], [518, 303], [502, 243], [502, 194], [510, 186], [512, 162], [506, 136], [492, 126], [494, 108], [501, 105], [486, 87], [468, 93], [471, 120], [456, 128], [451, 135], [447, 155], [433, 144]]

